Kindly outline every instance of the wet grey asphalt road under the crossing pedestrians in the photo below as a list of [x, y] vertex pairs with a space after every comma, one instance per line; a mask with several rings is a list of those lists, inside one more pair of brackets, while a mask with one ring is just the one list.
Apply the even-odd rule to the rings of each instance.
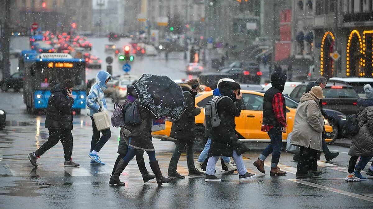
[[[174, 62], [177, 63], [178, 60], [175, 59]], [[154, 73], [162, 63], [162, 59], [145, 57], [142, 62], [134, 63], [134, 66], [142, 66], [138, 68], [139, 74], [142, 71]], [[159, 69], [163, 69], [162, 72], [173, 79], [186, 76], [181, 70], [178, 71], [181, 65], [165, 66], [163, 64], [164, 68]], [[89, 76], [94, 76], [95, 72], [97, 70], [90, 71]], [[222, 182], [207, 183], [203, 177], [186, 177], [158, 187], [155, 180], [142, 182], [136, 161], [132, 160], [120, 177], [126, 186], [109, 186], [110, 174], [117, 157], [119, 129], [111, 129], [112, 137], [99, 153], [106, 165], [91, 165], [87, 154], [90, 149], [92, 122], [89, 117], [84, 116], [85, 110], [82, 115], [74, 116], [72, 131], [73, 160], [81, 166], [63, 167], [63, 149], [59, 143], [47, 151], [38, 160], [39, 167], [33, 169], [26, 155], [47, 141], [45, 115], [26, 113], [22, 93], [12, 90], [1, 92], [0, 98], [0, 107], [7, 112], [7, 127], [0, 131], [0, 208], [373, 207], [373, 179], [344, 182], [349, 160], [348, 149], [333, 145], [329, 146], [330, 150], [339, 151], [340, 155], [328, 163], [322, 155], [319, 170], [324, 173], [311, 180], [295, 180], [297, 163], [286, 152], [282, 153], [279, 165], [288, 172], [286, 176], [269, 176], [270, 157], [264, 167], [267, 173], [259, 173], [252, 163], [266, 144], [250, 143], [247, 146], [251, 151], [244, 154], [244, 162], [249, 172], [258, 175], [248, 181], [239, 182], [238, 174], [224, 173], [217, 166], [217, 175], [222, 177]], [[113, 104], [110, 99], [107, 102], [111, 109]], [[166, 175], [175, 145], [159, 139], [154, 139], [153, 143], [161, 170]], [[198, 154], [195, 154], [195, 160]], [[144, 157], [148, 161], [146, 154]], [[151, 172], [148, 164], [147, 168]], [[183, 175], [188, 174], [185, 154], [180, 159], [178, 171]], [[362, 174], [366, 176], [365, 172]]]

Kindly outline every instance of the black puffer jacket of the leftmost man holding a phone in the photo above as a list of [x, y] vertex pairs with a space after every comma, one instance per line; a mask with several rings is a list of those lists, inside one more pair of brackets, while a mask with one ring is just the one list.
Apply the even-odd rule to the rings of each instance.
[[74, 99], [68, 97], [67, 90], [61, 84], [54, 85], [50, 93], [44, 126], [46, 128], [72, 130], [71, 107], [74, 104]]

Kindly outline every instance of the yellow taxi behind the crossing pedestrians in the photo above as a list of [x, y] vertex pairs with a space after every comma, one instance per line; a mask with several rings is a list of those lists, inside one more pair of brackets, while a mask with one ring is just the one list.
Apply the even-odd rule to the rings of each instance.
[[[269, 136], [267, 132], [262, 132], [261, 125], [263, 121], [263, 93], [257, 91], [241, 90], [243, 107], [241, 115], [235, 118], [236, 132], [238, 138], [242, 142], [269, 142]], [[195, 106], [204, 107], [213, 97], [213, 91], [203, 91], [197, 94], [195, 97]], [[286, 142], [288, 133], [292, 132], [295, 118], [295, 111], [297, 103], [285, 97], [286, 100], [286, 120], [288, 124], [286, 134], [282, 134], [282, 141]], [[289, 104], [289, 105], [288, 105]], [[195, 116], [196, 123], [196, 149], [204, 147], [207, 139], [204, 136], [204, 109], [201, 109], [201, 113]], [[329, 126], [329, 122], [325, 119], [325, 130], [327, 135], [330, 136], [333, 132], [332, 126]], [[153, 132], [154, 138], [159, 138], [167, 141], [176, 141], [176, 139], [170, 138], [172, 122], [166, 121], [166, 129], [162, 131]], [[331, 138], [325, 139], [326, 142], [332, 141]]]

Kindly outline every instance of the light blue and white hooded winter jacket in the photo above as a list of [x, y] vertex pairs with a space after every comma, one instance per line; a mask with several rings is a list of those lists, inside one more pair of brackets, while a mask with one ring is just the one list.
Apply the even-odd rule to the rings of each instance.
[[87, 115], [93, 116], [101, 108], [102, 111], [107, 110], [106, 100], [104, 96], [104, 90], [107, 89], [105, 81], [111, 75], [106, 71], [100, 71], [97, 73], [95, 81], [96, 83], [91, 87], [90, 93], [87, 96]]

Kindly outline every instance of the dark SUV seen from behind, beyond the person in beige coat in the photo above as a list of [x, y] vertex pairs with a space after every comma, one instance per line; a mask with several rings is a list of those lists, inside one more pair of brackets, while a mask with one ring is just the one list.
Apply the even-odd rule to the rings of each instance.
[[[308, 82], [301, 83], [289, 94], [295, 101], [299, 102], [303, 95]], [[337, 110], [345, 115], [355, 114], [358, 110], [357, 99], [359, 95], [355, 89], [343, 83], [329, 82], [323, 90], [325, 98], [323, 99], [323, 107], [326, 109]]]

